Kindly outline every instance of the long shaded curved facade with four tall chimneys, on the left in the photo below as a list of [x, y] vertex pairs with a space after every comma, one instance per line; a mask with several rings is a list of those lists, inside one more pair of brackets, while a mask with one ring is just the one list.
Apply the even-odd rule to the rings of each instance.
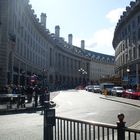
[[40, 19], [29, 0], [0, 0], [0, 85], [71, 88], [92, 80], [85, 42], [82, 48], [72, 45], [72, 34], [66, 42], [58, 25], [55, 33], [49, 32], [46, 14]]

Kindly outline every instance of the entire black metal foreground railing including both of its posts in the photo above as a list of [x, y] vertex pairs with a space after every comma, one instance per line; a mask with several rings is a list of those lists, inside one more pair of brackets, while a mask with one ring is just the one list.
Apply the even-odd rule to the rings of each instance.
[[117, 125], [55, 116], [55, 109], [44, 108], [44, 140], [140, 140], [140, 130], [125, 127], [124, 114]]

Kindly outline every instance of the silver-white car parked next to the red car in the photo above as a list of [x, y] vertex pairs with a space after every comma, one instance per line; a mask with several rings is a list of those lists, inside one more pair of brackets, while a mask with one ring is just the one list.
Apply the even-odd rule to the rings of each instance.
[[115, 86], [111, 90], [111, 94], [118, 97], [121, 97], [123, 93], [124, 93], [124, 88], [122, 86]]

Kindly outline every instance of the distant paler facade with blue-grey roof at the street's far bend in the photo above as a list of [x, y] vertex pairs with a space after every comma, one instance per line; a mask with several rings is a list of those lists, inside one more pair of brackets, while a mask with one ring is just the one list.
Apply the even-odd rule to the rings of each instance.
[[101, 79], [115, 76], [114, 56], [92, 52], [90, 62], [90, 77], [93, 83], [100, 83]]

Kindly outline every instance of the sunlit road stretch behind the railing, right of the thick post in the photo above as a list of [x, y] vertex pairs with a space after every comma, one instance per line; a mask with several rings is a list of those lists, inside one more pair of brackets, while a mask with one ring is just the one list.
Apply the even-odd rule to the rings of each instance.
[[57, 115], [116, 124], [117, 115], [124, 113], [128, 127], [140, 121], [140, 108], [105, 100], [100, 98], [102, 96], [87, 91], [61, 91], [59, 96], [54, 98]]

